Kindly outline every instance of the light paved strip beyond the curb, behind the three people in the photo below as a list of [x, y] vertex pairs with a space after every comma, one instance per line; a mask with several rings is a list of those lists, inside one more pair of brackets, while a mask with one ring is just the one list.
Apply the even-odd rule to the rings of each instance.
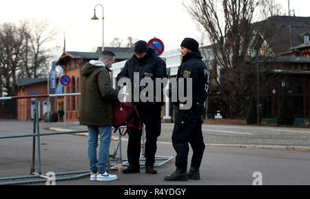
[[[78, 123], [42, 123], [45, 129], [54, 127], [59, 129], [82, 130], [87, 129]], [[171, 142], [172, 123], [163, 123], [161, 136], [158, 142]], [[285, 147], [310, 147], [310, 128], [292, 127], [258, 127], [245, 125], [203, 125], [203, 137], [208, 145], [240, 145], [253, 147], [253, 145], [285, 148]], [[127, 138], [127, 136], [125, 136]]]

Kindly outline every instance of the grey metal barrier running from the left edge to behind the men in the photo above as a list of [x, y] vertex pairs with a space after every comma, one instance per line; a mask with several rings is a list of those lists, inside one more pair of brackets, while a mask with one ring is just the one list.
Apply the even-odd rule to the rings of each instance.
[[[0, 136], [1, 139], [6, 138], [25, 138], [25, 137], [33, 137], [32, 140], [32, 165], [30, 168], [30, 176], [16, 176], [16, 177], [8, 177], [8, 178], [0, 178], [0, 185], [16, 185], [16, 184], [25, 184], [25, 183], [31, 183], [31, 182], [46, 182], [48, 180], [72, 180], [76, 178], [81, 178], [83, 176], [87, 176], [90, 174], [90, 171], [70, 171], [70, 172], [64, 172], [55, 174], [54, 178], [50, 178], [48, 176], [42, 175], [41, 171], [41, 148], [40, 148], [40, 137], [41, 136], [51, 136], [51, 135], [61, 135], [61, 134], [77, 134], [77, 133], [86, 133], [87, 130], [81, 130], [81, 131], [66, 131], [66, 132], [48, 132], [48, 133], [40, 133], [39, 129], [39, 103], [38, 98], [43, 97], [54, 97], [54, 96], [76, 96], [80, 95], [81, 93], [73, 93], [73, 94], [43, 94], [43, 95], [32, 95], [32, 96], [12, 96], [12, 97], [1, 97], [1, 100], [10, 100], [10, 99], [21, 99], [21, 98], [35, 98], [36, 106], [34, 108], [33, 112], [33, 133], [32, 134], [20, 134], [20, 135], [8, 135], [8, 136]], [[125, 131], [126, 127], [120, 127], [118, 129], [119, 136], [118, 136], [118, 143], [116, 145], [116, 149], [114, 149], [114, 154], [110, 155], [109, 158], [107, 158], [107, 170], [114, 170], [118, 169], [118, 165], [128, 165], [128, 162], [123, 162], [122, 157], [122, 151], [121, 151], [121, 138], [122, 134]], [[35, 168], [35, 151], [36, 151], [36, 138], [37, 138], [37, 171]], [[145, 166], [143, 162], [145, 162], [145, 128], [143, 127], [143, 142], [142, 142], [142, 149], [143, 149], [143, 156], [141, 156], [141, 168]], [[117, 153], [119, 153], [119, 157], [117, 157]], [[172, 160], [173, 157], [156, 157], [156, 163], [154, 164], [154, 167], [159, 167], [165, 163], [167, 163], [169, 160]], [[116, 163], [114, 165], [111, 164], [111, 161], [115, 161]]]

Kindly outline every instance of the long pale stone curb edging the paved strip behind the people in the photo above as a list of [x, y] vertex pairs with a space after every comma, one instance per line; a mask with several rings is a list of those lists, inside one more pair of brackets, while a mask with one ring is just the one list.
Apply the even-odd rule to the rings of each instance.
[[[50, 127], [51, 131], [54, 132], [70, 132], [70, 129], [60, 129], [56, 127]], [[76, 133], [72, 134], [76, 136], [88, 136], [88, 133]], [[118, 137], [112, 136], [113, 141], [118, 141]], [[122, 141], [127, 142], [127, 138], [121, 138]], [[158, 144], [172, 145], [169, 142], [157, 142]], [[310, 151], [310, 147], [299, 147], [299, 146], [277, 146], [277, 145], [227, 145], [227, 144], [205, 144], [206, 147], [236, 147], [236, 148], [248, 148], [248, 149], [285, 149], [285, 150], [299, 150], [299, 151]]]

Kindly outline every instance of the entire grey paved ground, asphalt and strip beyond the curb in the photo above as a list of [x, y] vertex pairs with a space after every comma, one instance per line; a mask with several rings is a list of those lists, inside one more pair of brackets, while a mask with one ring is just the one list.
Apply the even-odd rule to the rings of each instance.
[[[0, 121], [0, 136], [32, 133], [32, 123]], [[163, 124], [156, 156], [175, 156], [171, 145], [172, 124]], [[76, 123], [40, 123], [41, 133], [57, 129], [86, 129]], [[158, 167], [158, 175], [144, 173], [118, 175], [112, 182], [90, 182], [88, 177], [57, 181], [56, 185], [252, 185], [254, 172], [262, 174], [262, 185], [310, 185], [309, 129], [203, 125], [207, 145], [200, 168], [201, 180], [165, 182], [174, 171], [174, 160]], [[111, 144], [114, 151], [116, 141]], [[227, 147], [214, 147], [223, 145]], [[122, 142], [126, 157], [127, 142]], [[264, 145], [272, 149], [254, 149]], [[228, 147], [230, 146], [230, 147]], [[238, 147], [234, 147], [238, 146]], [[277, 146], [277, 147], [276, 147]], [[248, 147], [248, 148], [244, 148]], [[278, 149], [291, 147], [290, 150]], [[42, 171], [68, 172], [87, 170], [87, 137], [58, 135], [41, 137]], [[189, 154], [189, 160], [191, 157]], [[0, 178], [29, 174], [32, 158], [32, 138], [0, 140]], [[34, 185], [45, 185], [37, 183]]]

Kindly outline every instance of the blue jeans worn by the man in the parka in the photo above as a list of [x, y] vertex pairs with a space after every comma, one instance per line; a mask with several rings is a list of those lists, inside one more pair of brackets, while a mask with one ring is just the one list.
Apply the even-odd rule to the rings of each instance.
[[[90, 171], [96, 173], [104, 173], [107, 169], [107, 156], [109, 155], [112, 126], [107, 127], [92, 127], [88, 129], [88, 149], [87, 155], [90, 160]], [[97, 160], [98, 135], [100, 136], [99, 158]]]

